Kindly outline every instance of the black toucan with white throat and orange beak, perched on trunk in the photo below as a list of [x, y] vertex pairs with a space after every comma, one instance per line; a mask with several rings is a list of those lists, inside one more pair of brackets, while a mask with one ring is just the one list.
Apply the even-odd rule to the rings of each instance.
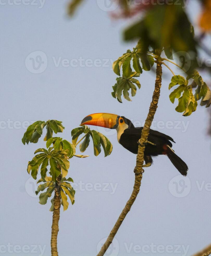
[[[138, 141], [143, 127], [135, 127], [129, 119], [123, 116], [110, 113], [95, 113], [87, 115], [81, 121], [81, 125], [95, 125], [116, 129], [118, 142], [133, 154], [138, 153]], [[174, 153], [171, 142], [175, 143], [170, 136], [150, 129], [144, 151], [145, 165], [143, 167], [148, 167], [153, 163], [152, 156], [167, 155], [177, 170], [183, 176], [186, 176], [188, 166]]]

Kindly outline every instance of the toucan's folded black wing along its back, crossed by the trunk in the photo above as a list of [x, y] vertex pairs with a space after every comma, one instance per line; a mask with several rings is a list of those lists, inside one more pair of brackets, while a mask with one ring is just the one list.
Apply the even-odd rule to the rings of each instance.
[[[130, 135], [141, 135], [141, 132], [142, 132], [142, 129], [143, 127], [131, 127], [130, 129], [125, 129], [124, 130], [124, 133], [125, 134], [130, 134]], [[155, 130], [152, 130], [150, 129], [149, 130], [149, 141], [150, 141], [150, 137], [158, 137], [158, 138], [163, 138], [167, 141], [172, 141], [175, 143], [175, 141], [168, 135], [162, 133], [162, 132], [158, 132], [158, 131], [155, 131]], [[139, 138], [140, 139], [140, 138]], [[153, 139], [153, 138], [152, 138]]]

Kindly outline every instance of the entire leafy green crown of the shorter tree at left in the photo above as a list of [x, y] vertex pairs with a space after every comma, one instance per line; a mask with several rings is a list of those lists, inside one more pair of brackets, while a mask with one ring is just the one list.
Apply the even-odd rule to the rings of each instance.
[[[46, 141], [46, 148], [37, 149], [34, 154], [36, 154], [31, 161], [28, 162], [27, 171], [34, 179], [37, 179], [37, 174], [40, 169], [41, 179], [37, 182], [43, 182], [38, 186], [36, 194], [40, 191], [44, 191], [40, 194], [40, 204], [44, 205], [47, 203], [49, 197], [51, 197], [54, 189], [57, 188], [58, 184], [60, 186], [61, 204], [63, 205], [64, 211], [68, 208], [67, 196], [69, 196], [71, 203], [74, 203], [75, 190], [72, 188], [71, 184], [68, 182], [73, 182], [72, 178], [66, 179], [68, 174], [68, 169], [70, 166], [69, 159], [73, 156], [84, 158], [87, 156], [75, 155], [75, 148], [77, 144], [78, 137], [85, 133], [84, 141], [80, 145], [80, 151], [84, 152], [89, 145], [89, 136], [93, 139], [94, 144], [94, 155], [97, 156], [101, 152], [100, 146], [102, 145], [105, 156], [110, 155], [112, 151], [111, 142], [100, 132], [95, 130], [90, 130], [87, 126], [78, 127], [72, 130], [72, 142], [62, 139], [60, 137], [53, 137], [53, 132], [63, 132], [65, 127], [62, 126], [61, 121], [48, 120], [36, 121], [27, 128], [24, 133], [22, 142], [25, 143], [37, 143], [42, 135], [43, 128], [46, 126], [47, 134], [44, 137]], [[82, 138], [82, 139], [83, 139]], [[38, 153], [38, 154], [37, 154]], [[49, 174], [48, 165], [50, 165]], [[61, 180], [60, 180], [61, 179]], [[54, 209], [54, 197], [51, 199], [52, 206], [50, 211]]]

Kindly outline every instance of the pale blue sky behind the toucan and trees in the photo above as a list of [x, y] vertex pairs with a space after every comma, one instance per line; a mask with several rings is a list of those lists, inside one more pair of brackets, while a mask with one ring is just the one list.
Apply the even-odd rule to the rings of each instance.
[[[37, 5], [32, 5], [32, 1], [29, 5], [23, 0], [20, 5], [12, 0], [1, 1], [6, 3], [1, 6], [0, 16], [2, 255], [50, 255], [50, 201], [43, 206], [33, 197], [33, 181], [26, 171], [35, 149], [44, 147], [45, 143], [41, 139], [37, 144], [24, 146], [21, 138], [25, 124], [36, 120], [61, 120], [65, 126], [61, 136], [71, 140], [71, 130], [88, 114], [116, 113], [138, 125], [148, 113], [154, 90], [153, 72], [141, 75], [142, 87], [132, 102], [124, 100], [120, 104], [111, 96], [116, 75], [111, 70], [110, 59], [115, 60], [136, 44], [122, 41], [121, 31], [129, 21], [111, 20], [97, 5], [99, 1], [85, 2], [77, 15], [68, 19], [66, 1], [45, 1], [42, 8], [38, 1], [34, 2]], [[188, 8], [195, 25], [199, 6], [191, 1]], [[29, 71], [32, 67], [29, 58], [36, 54], [27, 57], [35, 51], [43, 52], [43, 58], [46, 55], [46, 59], [42, 59], [43, 72], [38, 74]], [[58, 63], [59, 58], [61, 62]], [[62, 65], [63, 59], [68, 59], [72, 66], [66, 61]], [[76, 67], [73, 59], [78, 60]], [[88, 60], [83, 67], [79, 59], [84, 62], [91, 59], [95, 65]], [[102, 63], [99, 67], [96, 66], [98, 59], [97, 63]], [[104, 59], [109, 59], [107, 64]], [[190, 117], [177, 113], [176, 105], [168, 98], [171, 75], [165, 67], [163, 71], [154, 129], [174, 138], [175, 152], [189, 166], [188, 178], [184, 179], [184, 184], [180, 182], [182, 176], [174, 178], [179, 172], [167, 157], [154, 159], [154, 165], [145, 170], [140, 194], [118, 231], [115, 249], [107, 255], [166, 256], [176, 254], [177, 245], [181, 246], [177, 255], [191, 255], [210, 243], [208, 111], [199, 106]], [[204, 74], [206, 78], [208, 80]], [[96, 255], [98, 243], [109, 234], [132, 191], [136, 156], [118, 144], [115, 131], [99, 131], [111, 140], [113, 152], [107, 158], [103, 154], [95, 157], [90, 146], [85, 152], [89, 158], [71, 159], [69, 175], [78, 188], [79, 183], [84, 185], [76, 191], [75, 204], [61, 211], [60, 256]], [[177, 192], [177, 183], [187, 187], [183, 187], [184, 191], [180, 187]], [[13, 245], [10, 247], [12, 254], [9, 243]], [[153, 244], [156, 249], [152, 248]], [[30, 249], [23, 249], [24, 245]], [[42, 248], [46, 245], [44, 254], [39, 249], [33, 253], [33, 245]], [[17, 253], [19, 247], [20, 253]], [[188, 248], [186, 254], [184, 248]], [[30, 253], [25, 253], [27, 250]]]

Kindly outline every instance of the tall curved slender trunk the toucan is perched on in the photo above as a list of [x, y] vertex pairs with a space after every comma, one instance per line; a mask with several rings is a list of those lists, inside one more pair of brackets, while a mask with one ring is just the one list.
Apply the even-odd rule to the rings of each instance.
[[[156, 53], [160, 56], [160, 52]], [[161, 61], [157, 60], [157, 67], [156, 67], [156, 80], [155, 80], [155, 90], [152, 96], [152, 102], [150, 104], [149, 113], [146, 118], [144, 128], [142, 130], [141, 138], [139, 140], [139, 146], [138, 146], [138, 154], [136, 157], [136, 167], [134, 169], [135, 172], [135, 184], [133, 187], [133, 192], [130, 196], [130, 199], [127, 201], [122, 213], [120, 214], [116, 224], [114, 225], [113, 229], [110, 232], [110, 235], [108, 236], [106, 242], [100, 249], [100, 252], [97, 254], [97, 256], [103, 256], [108, 249], [109, 245], [112, 243], [112, 240], [114, 236], [116, 235], [120, 225], [122, 224], [123, 220], [125, 219], [125, 216], [130, 211], [131, 206], [133, 205], [134, 201], [136, 200], [136, 197], [139, 193], [141, 180], [142, 180], [142, 173], [143, 170], [143, 163], [144, 163], [144, 149], [145, 144], [147, 143], [147, 138], [149, 135], [150, 126], [152, 124], [152, 120], [154, 118], [156, 109], [157, 109], [157, 103], [160, 96], [160, 89], [161, 89], [161, 77], [162, 77], [162, 66]]]

